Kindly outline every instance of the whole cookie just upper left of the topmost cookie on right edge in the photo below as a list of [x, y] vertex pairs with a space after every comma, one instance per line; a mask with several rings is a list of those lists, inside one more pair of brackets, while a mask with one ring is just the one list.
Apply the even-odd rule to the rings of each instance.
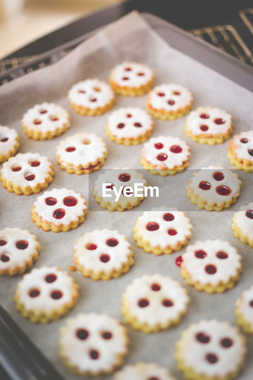
[[185, 131], [201, 144], [221, 144], [232, 133], [232, 117], [219, 108], [199, 107], [186, 118]]

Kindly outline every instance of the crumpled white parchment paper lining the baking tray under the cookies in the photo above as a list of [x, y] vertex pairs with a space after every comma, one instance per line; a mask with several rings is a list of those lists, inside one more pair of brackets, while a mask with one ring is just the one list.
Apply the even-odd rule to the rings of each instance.
[[[134, 266], [119, 279], [95, 282], [92, 279], [84, 279], [79, 272], [72, 273], [80, 285], [79, 301], [68, 316], [48, 325], [33, 325], [29, 320], [23, 319], [20, 313], [15, 310], [13, 295], [21, 277], [2, 277], [0, 279], [1, 304], [68, 380], [74, 380], [77, 377], [71, 375], [68, 369], [62, 366], [57, 352], [59, 328], [65, 324], [66, 318], [73, 317], [80, 312], [96, 311], [108, 313], [123, 321], [120, 314], [120, 302], [125, 287], [135, 277], [140, 277], [145, 273], [159, 272], [163, 275], [171, 275], [174, 279], [185, 284], [185, 281], [180, 277], [180, 269], [174, 263], [177, 255], [185, 252], [184, 248], [171, 255], [155, 256], [139, 249], [133, 240], [133, 226], [144, 210], [150, 210], [154, 206], [166, 205], [184, 211], [193, 224], [189, 244], [207, 238], [231, 241], [242, 255], [243, 272], [236, 287], [224, 294], [201, 293], [185, 284], [191, 297], [190, 307], [182, 323], [168, 331], [146, 335], [128, 328], [131, 345], [126, 363], [133, 364], [141, 360], [156, 361], [160, 365], [168, 366], [174, 375], [181, 379], [182, 376], [177, 371], [174, 361], [174, 347], [180, 337], [180, 332], [191, 322], [199, 321], [201, 318], [218, 318], [235, 323], [235, 301], [242, 291], [253, 283], [253, 250], [248, 245], [241, 244], [231, 230], [234, 212], [238, 211], [239, 206], [252, 201], [253, 174], [237, 171], [242, 180], [241, 195], [236, 204], [220, 213], [200, 211], [186, 197], [186, 185], [193, 174], [192, 169], [199, 169], [210, 164], [234, 169], [226, 157], [228, 141], [212, 147], [204, 146], [187, 138], [184, 132], [185, 118], [167, 122], [155, 120], [153, 136], [179, 136], [187, 141], [191, 148], [189, 169], [176, 174], [176, 176], [164, 178], [152, 176], [149, 172], [142, 171], [148, 185], [159, 186], [160, 197], [146, 198], [140, 206], [123, 213], [117, 211], [111, 213], [108, 210], [101, 209], [100, 205], [95, 203], [91, 190], [93, 190], [99, 172], [92, 173], [90, 176], [85, 174], [76, 176], [62, 171], [57, 165], [56, 147], [60, 141], [74, 133], [87, 131], [97, 133], [104, 138], [108, 145], [109, 154], [104, 168], [127, 166], [128, 168], [143, 169], [140, 163], [143, 144], [128, 147], [110, 141], [105, 133], [109, 114], [93, 118], [79, 116], [71, 111], [66, 99], [67, 90], [73, 83], [93, 77], [108, 81], [111, 68], [123, 60], [136, 60], [152, 67], [156, 75], [155, 84], [174, 82], [190, 89], [194, 94], [194, 109], [201, 105], [218, 106], [221, 109], [226, 109], [233, 116], [234, 133], [252, 129], [253, 125], [253, 94], [251, 92], [196, 60], [172, 49], [138, 13], [130, 13], [104, 28], [102, 32], [82, 43], [68, 57], [55, 65], [35, 71], [0, 87], [0, 123], [18, 130], [21, 143], [19, 152], [39, 152], [42, 155], [47, 155], [55, 170], [54, 180], [49, 185], [48, 190], [55, 187], [73, 188], [87, 199], [90, 209], [85, 216], [85, 222], [76, 230], [67, 233], [44, 232], [32, 222], [30, 211], [38, 195], [17, 196], [14, 193], [8, 193], [1, 185], [0, 229], [18, 226], [36, 234], [41, 243], [41, 253], [38, 262], [35, 264], [36, 268], [43, 265], [59, 265], [62, 269], [68, 270], [68, 267], [74, 264], [73, 246], [77, 239], [85, 231], [92, 231], [95, 228], [116, 228], [120, 233], [127, 236], [135, 252]], [[144, 108], [146, 99], [147, 95], [134, 99], [118, 96], [115, 108], [131, 105]], [[70, 111], [72, 126], [67, 133], [58, 138], [36, 142], [28, 139], [22, 131], [21, 117], [29, 107], [42, 101], [55, 101], [65, 106]], [[248, 339], [248, 347], [247, 366], [240, 376], [244, 380], [251, 380], [253, 374], [252, 337]]]

